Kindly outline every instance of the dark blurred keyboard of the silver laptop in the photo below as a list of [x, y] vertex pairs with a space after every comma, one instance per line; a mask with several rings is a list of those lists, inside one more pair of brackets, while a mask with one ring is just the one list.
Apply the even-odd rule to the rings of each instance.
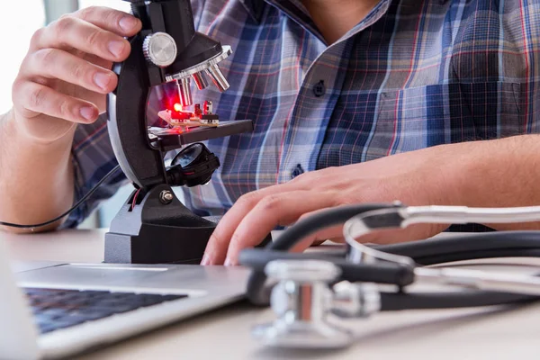
[[24, 288], [42, 334], [187, 297], [151, 293], [111, 293]]

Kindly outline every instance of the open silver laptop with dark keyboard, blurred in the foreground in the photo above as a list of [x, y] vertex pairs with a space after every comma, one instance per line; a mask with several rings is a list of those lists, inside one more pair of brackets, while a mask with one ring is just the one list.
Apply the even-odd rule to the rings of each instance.
[[[38, 268], [35, 268], [38, 267]], [[248, 269], [31, 264], [13, 270], [0, 240], [0, 357], [71, 356], [243, 297]]]

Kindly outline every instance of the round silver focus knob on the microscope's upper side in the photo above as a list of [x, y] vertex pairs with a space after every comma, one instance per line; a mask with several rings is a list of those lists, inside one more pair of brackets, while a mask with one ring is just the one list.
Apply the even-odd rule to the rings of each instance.
[[154, 32], [144, 39], [142, 52], [148, 62], [157, 67], [168, 67], [176, 58], [175, 39], [166, 32]]

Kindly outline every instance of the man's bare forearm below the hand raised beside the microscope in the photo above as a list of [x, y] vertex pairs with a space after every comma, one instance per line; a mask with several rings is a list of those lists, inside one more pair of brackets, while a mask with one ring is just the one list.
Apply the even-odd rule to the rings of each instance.
[[[69, 130], [53, 143], [40, 143], [17, 128], [11, 112], [0, 117], [0, 220], [40, 223], [69, 208], [74, 181], [72, 141], [73, 130]], [[59, 224], [60, 221], [34, 231], [54, 229]]]

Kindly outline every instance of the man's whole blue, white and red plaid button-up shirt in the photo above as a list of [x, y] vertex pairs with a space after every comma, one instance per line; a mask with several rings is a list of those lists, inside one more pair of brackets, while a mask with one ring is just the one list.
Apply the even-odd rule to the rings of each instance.
[[[207, 142], [220, 169], [211, 184], [182, 189], [202, 215], [302, 172], [538, 132], [537, 2], [381, 0], [330, 46], [300, 0], [193, 0], [193, 14], [198, 31], [234, 50], [220, 65], [229, 90], [193, 90], [194, 103], [255, 124]], [[76, 131], [77, 198], [117, 164], [105, 126], [102, 117]], [[67, 225], [121, 184], [119, 174]]]

